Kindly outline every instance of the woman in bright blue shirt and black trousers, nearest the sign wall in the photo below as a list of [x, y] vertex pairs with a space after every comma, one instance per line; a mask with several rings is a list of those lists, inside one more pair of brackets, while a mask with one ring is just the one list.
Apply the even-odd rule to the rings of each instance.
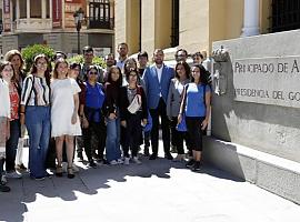
[[186, 122], [192, 159], [187, 163], [193, 171], [200, 170], [202, 152], [202, 130], [206, 129], [210, 115], [211, 90], [207, 80], [207, 70], [201, 64], [191, 68], [191, 83], [184, 88], [183, 99], [180, 105], [178, 122], [182, 120], [182, 112], [186, 112]]

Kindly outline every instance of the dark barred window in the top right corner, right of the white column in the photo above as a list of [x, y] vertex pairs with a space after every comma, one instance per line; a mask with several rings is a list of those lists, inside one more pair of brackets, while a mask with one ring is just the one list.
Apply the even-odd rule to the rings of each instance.
[[300, 0], [272, 0], [271, 32], [300, 29]]

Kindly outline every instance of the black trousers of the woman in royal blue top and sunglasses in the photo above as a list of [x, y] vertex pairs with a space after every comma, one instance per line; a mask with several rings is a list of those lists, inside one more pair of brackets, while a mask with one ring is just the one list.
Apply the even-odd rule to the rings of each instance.
[[89, 122], [89, 128], [82, 129], [83, 134], [83, 143], [84, 151], [88, 160], [92, 160], [92, 148], [91, 148], [91, 139], [92, 134], [96, 137], [98, 142], [96, 150], [98, 151], [98, 158], [103, 160], [103, 153], [106, 148], [106, 139], [107, 139], [107, 128], [104, 121], [101, 122]]

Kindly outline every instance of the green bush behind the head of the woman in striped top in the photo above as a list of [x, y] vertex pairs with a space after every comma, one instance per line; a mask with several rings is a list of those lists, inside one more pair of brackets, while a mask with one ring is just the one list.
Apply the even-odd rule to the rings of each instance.
[[44, 44], [33, 44], [22, 49], [21, 53], [26, 62], [26, 72], [28, 72], [36, 56], [46, 54], [51, 60], [54, 56], [54, 50]]

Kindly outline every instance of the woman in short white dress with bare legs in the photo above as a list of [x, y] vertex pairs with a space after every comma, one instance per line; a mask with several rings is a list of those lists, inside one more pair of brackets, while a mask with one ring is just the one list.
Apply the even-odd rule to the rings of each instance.
[[80, 88], [76, 80], [68, 78], [68, 63], [63, 59], [56, 62], [51, 82], [51, 137], [56, 139], [57, 176], [62, 176], [62, 144], [66, 141], [68, 178], [74, 178], [72, 171], [74, 137], [81, 135], [78, 117]]

